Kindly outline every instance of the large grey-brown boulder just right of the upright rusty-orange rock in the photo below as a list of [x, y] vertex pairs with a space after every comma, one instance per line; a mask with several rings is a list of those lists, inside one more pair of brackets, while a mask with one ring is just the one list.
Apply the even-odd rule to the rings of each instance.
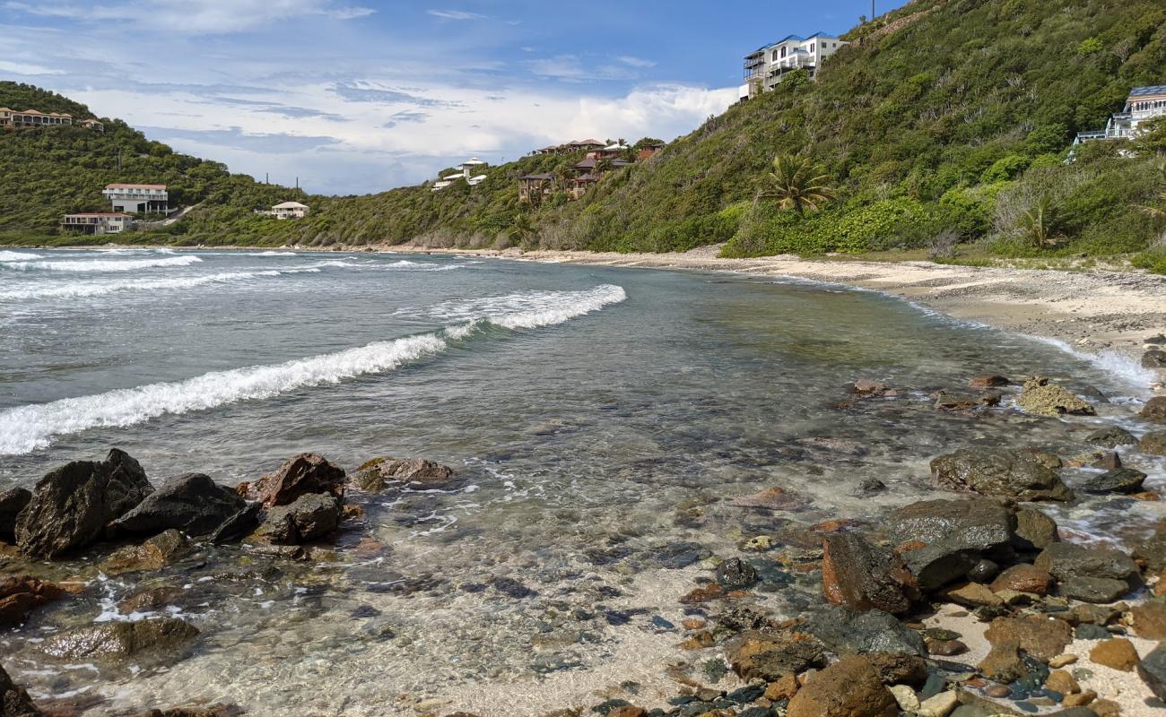
[[900, 555], [925, 592], [1006, 548], [1016, 529], [1013, 514], [989, 500], [925, 500], [894, 511], [887, 522], [895, 543], [913, 546]]

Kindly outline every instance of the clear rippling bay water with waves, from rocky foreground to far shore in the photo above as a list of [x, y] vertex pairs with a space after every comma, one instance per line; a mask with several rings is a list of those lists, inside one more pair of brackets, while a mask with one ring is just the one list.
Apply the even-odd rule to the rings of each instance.
[[[985, 372], [1053, 375], [1114, 402], [1073, 423], [932, 408], [932, 391]], [[856, 378], [900, 398], [837, 408]], [[211, 698], [377, 715], [410, 709], [402, 693], [482, 709], [491, 686], [588, 684], [619, 655], [670, 649], [679, 635], [649, 620], [677, 623], [696, 575], [666, 569], [670, 546], [728, 556], [789, 520], [877, 520], [933, 495], [927, 462], [964, 445], [1082, 452], [1100, 423], [1145, 428], [1130, 421], [1139, 391], [1045, 343], [808, 282], [387, 254], [5, 252], [0, 487], [112, 445], [155, 480], [251, 480], [305, 450], [349, 470], [420, 456], [459, 476], [448, 491], [354, 497], [363, 530], [323, 565], [224, 548], [154, 576], [184, 589], [173, 610], [203, 631], [164, 669], [37, 652], [42, 628], [108, 619], [135, 590], [125, 578], [3, 644], [34, 693], [101, 693], [98, 711]], [[1161, 485], [1160, 462], [1128, 463]], [[870, 477], [890, 490], [855, 497]], [[799, 509], [733, 505], [771, 486]], [[1159, 513], [1089, 500], [1058, 518], [1117, 540]], [[806, 598], [764, 599], [793, 613]]]

